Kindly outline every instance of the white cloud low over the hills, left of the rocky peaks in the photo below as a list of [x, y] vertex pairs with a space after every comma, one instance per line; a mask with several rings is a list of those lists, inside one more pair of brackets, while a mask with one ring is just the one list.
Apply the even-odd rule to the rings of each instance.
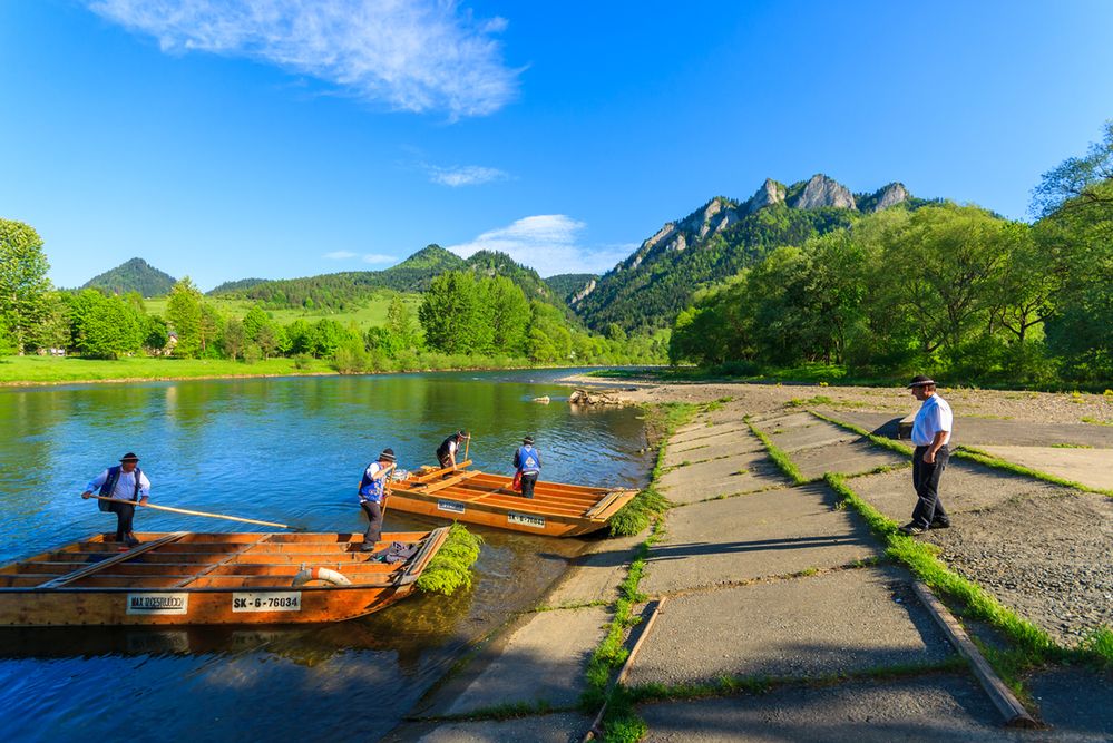
[[450, 245], [448, 250], [465, 258], [479, 251], [499, 251], [535, 268], [541, 276], [553, 276], [604, 273], [637, 247], [634, 244], [582, 245], [579, 236], [586, 226], [564, 214], [540, 214], [485, 232], [470, 242]]

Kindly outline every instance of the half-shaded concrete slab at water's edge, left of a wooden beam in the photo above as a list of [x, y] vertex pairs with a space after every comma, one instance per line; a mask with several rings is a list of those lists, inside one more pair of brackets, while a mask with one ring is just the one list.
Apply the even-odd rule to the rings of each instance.
[[531, 615], [492, 647], [489, 663], [447, 705], [430, 715], [465, 714], [496, 704], [548, 702], [574, 705], [584, 686], [584, 668], [604, 635], [609, 615], [597, 606]]

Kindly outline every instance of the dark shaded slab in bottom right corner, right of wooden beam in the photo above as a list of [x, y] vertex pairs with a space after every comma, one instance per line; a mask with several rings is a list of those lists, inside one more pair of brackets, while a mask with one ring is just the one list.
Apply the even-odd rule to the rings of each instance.
[[1034, 675], [1027, 687], [1056, 733], [1113, 741], [1113, 674], [1055, 668]]

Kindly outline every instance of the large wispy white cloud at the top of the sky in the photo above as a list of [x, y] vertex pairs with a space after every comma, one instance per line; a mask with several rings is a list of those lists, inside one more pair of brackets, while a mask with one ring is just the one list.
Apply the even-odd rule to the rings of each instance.
[[517, 92], [520, 70], [453, 0], [86, 0], [164, 51], [246, 57], [408, 111], [482, 116]]

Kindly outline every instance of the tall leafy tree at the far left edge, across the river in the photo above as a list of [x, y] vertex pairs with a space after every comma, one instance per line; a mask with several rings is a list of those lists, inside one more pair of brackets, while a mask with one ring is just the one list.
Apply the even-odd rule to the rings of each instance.
[[20, 355], [49, 314], [49, 270], [38, 233], [22, 222], [0, 219], [0, 321]]

